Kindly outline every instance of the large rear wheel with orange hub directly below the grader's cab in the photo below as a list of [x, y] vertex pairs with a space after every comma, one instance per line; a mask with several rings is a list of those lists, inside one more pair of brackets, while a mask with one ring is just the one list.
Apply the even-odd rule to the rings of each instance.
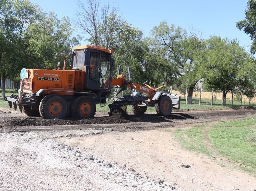
[[90, 97], [80, 96], [73, 101], [71, 112], [74, 118], [93, 118], [96, 112], [96, 104]]

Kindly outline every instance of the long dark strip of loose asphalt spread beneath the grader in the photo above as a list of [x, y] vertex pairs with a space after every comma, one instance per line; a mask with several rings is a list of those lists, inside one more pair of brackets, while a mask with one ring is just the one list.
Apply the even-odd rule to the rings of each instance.
[[[237, 112], [236, 112], [237, 111]], [[252, 107], [246, 110], [230, 110], [224, 111], [225, 115], [240, 116], [242, 113], [255, 113], [256, 108]], [[173, 112], [168, 116], [159, 116], [156, 113], [144, 113], [141, 115], [135, 115], [133, 113], [127, 114], [123, 110], [114, 110], [109, 116], [94, 117], [91, 119], [77, 120], [72, 118], [67, 119], [42, 119], [41, 117], [0, 117], [0, 128], [6, 127], [8, 129], [15, 129], [22, 126], [55, 126], [55, 125], [97, 125], [97, 124], [126, 124], [130, 122], [142, 122], [142, 123], [162, 123], [172, 122], [175, 120], [187, 120], [187, 119], [207, 119], [211, 117], [222, 116], [221, 111], [212, 112]]]

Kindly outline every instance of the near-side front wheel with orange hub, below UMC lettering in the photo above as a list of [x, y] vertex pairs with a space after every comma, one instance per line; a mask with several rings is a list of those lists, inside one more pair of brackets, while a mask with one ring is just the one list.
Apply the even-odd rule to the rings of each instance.
[[160, 96], [155, 104], [155, 111], [159, 115], [170, 115], [173, 110], [172, 99], [166, 95]]

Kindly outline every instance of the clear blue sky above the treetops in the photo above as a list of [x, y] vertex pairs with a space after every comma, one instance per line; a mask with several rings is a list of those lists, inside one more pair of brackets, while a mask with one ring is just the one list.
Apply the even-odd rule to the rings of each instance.
[[[86, 1], [86, 0], [85, 0]], [[75, 17], [78, 10], [75, 0], [31, 0], [44, 11], [54, 11], [59, 18]], [[127, 23], [138, 27], [144, 37], [150, 30], [166, 21], [184, 29], [196, 29], [203, 38], [220, 36], [235, 39], [245, 50], [249, 50], [251, 40], [236, 28], [236, 22], [245, 18], [247, 0], [101, 0], [101, 4], [113, 4], [119, 8]], [[84, 44], [86, 42], [81, 42]]]

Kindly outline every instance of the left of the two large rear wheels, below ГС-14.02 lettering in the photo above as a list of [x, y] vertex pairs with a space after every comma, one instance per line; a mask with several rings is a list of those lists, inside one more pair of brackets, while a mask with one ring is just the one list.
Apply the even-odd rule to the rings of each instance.
[[64, 119], [68, 113], [67, 102], [60, 95], [49, 94], [40, 102], [39, 113], [43, 119]]

